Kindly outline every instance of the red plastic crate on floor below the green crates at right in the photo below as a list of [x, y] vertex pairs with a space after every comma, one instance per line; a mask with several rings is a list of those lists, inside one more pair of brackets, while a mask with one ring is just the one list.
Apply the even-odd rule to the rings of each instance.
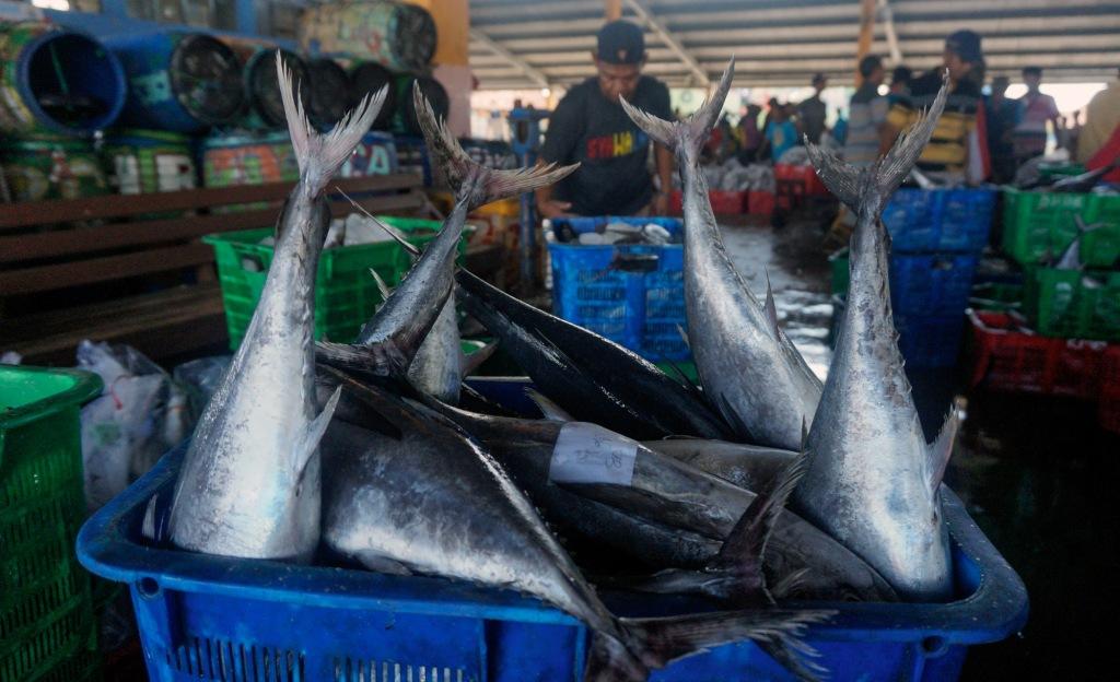
[[973, 386], [1095, 400], [1108, 344], [1047, 338], [1023, 330], [1010, 315], [969, 310]]

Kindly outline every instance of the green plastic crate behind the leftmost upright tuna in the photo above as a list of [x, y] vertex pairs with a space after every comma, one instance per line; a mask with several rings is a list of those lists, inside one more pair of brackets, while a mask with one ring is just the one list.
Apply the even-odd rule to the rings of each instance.
[[[380, 216], [380, 219], [403, 231], [417, 246], [435, 239], [441, 225], [438, 221], [420, 218]], [[203, 239], [214, 246], [225, 305], [225, 325], [233, 349], [241, 345], [245, 336], [249, 320], [261, 298], [269, 265], [272, 264], [273, 247], [260, 243], [271, 234], [271, 228], [244, 230]], [[464, 253], [465, 236], [459, 242], [460, 262]], [[338, 343], [354, 340], [381, 302], [381, 293], [370, 269], [376, 270], [392, 287], [400, 283], [411, 267], [411, 256], [393, 241], [324, 251], [315, 284], [315, 338], [326, 337]]]

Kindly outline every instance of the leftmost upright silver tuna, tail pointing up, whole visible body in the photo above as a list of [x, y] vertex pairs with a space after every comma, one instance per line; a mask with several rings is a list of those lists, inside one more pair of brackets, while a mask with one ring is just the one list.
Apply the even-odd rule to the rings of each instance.
[[169, 527], [183, 549], [304, 561], [319, 541], [318, 446], [337, 401], [316, 417], [312, 289], [330, 219], [321, 193], [370, 129], [385, 92], [320, 136], [279, 55], [277, 72], [300, 177], [245, 338], [186, 452]]

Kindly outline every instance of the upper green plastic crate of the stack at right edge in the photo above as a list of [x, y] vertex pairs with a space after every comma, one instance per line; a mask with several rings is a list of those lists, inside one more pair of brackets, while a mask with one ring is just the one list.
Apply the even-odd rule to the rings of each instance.
[[1004, 251], [1024, 265], [1057, 258], [1086, 225], [1103, 223], [1081, 240], [1081, 260], [1109, 268], [1120, 258], [1120, 196], [1004, 190]]

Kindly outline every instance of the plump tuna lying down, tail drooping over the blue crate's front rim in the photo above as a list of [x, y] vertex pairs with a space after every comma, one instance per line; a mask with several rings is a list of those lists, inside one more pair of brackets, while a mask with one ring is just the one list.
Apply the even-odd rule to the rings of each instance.
[[[758, 609], [678, 618], [615, 617], [502, 467], [449, 422], [388, 392], [346, 385], [392, 424], [389, 435], [338, 420], [324, 439], [324, 541], [374, 570], [515, 589], [594, 632], [585, 679], [641, 681], [652, 669], [745, 638], [799, 651], [825, 611]], [[438, 466], [432, 466], [438, 463]]]

